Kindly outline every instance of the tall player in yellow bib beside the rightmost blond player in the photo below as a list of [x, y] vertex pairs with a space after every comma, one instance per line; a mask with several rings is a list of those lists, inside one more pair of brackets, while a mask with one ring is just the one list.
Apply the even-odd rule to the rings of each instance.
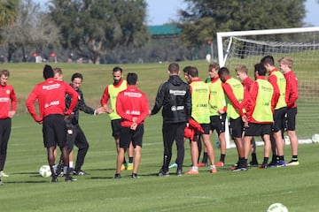
[[273, 156], [269, 165], [271, 167], [282, 167], [286, 165], [284, 162], [284, 139], [282, 134], [287, 111], [287, 103], [285, 102], [286, 79], [284, 79], [284, 74], [276, 69], [274, 57], [262, 57], [261, 64], [265, 66], [268, 72], [268, 81], [274, 87], [276, 95], [274, 124], [270, 137]]

